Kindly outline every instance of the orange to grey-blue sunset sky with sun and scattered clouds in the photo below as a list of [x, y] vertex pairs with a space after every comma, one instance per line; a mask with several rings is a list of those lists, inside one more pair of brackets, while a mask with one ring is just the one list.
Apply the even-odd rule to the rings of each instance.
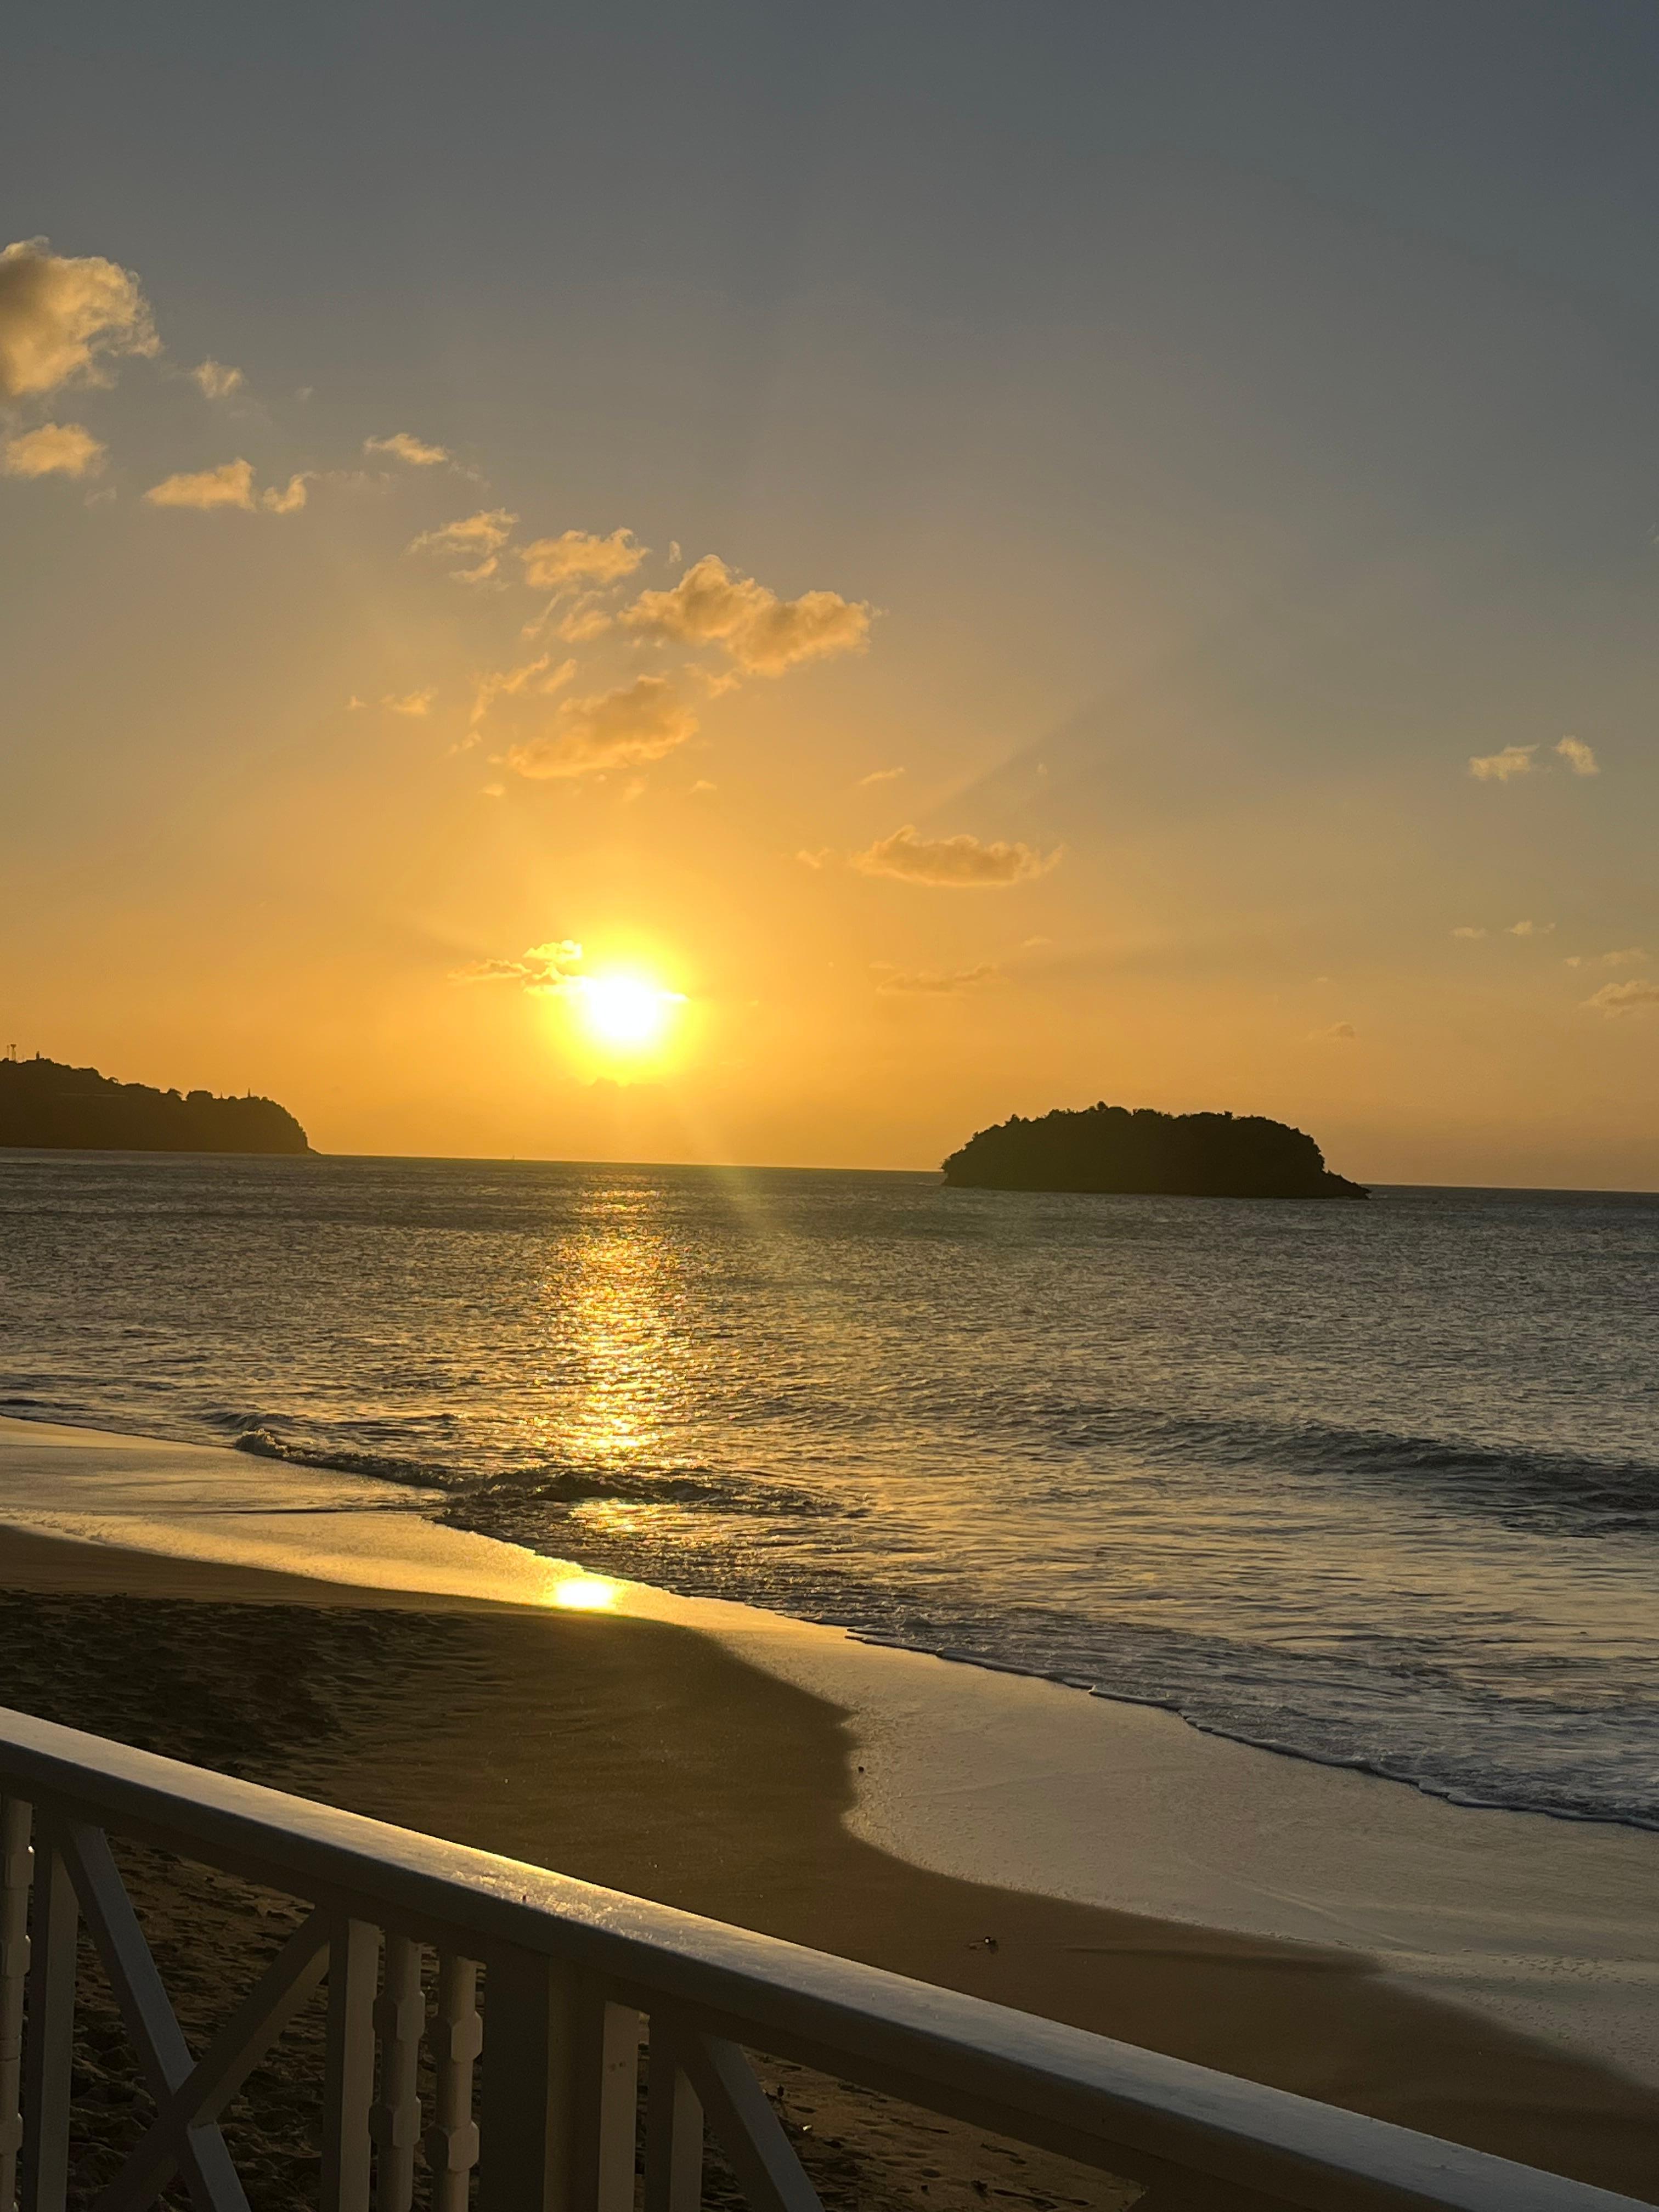
[[24, 9], [0, 1048], [1659, 1188], [1659, 13]]

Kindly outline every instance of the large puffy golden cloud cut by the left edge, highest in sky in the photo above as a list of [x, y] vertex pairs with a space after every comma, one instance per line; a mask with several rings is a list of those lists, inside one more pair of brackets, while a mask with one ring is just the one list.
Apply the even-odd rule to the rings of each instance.
[[0, 398], [97, 383], [117, 354], [155, 354], [150, 310], [131, 270], [55, 254], [46, 239], [0, 252]]

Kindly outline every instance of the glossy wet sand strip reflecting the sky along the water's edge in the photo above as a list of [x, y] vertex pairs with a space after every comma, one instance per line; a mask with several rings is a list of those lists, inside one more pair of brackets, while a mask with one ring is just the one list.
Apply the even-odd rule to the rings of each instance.
[[[434, 1500], [436, 1502], [436, 1500]], [[0, 1522], [385, 1590], [560, 1601], [577, 1562], [427, 1520], [405, 1486], [0, 1418]], [[591, 1577], [588, 1577], [591, 1579]], [[914, 1865], [1239, 1933], [1340, 1944], [1659, 2084], [1659, 1838], [1475, 1812], [752, 1606], [617, 1584], [849, 1712], [849, 1823]]]

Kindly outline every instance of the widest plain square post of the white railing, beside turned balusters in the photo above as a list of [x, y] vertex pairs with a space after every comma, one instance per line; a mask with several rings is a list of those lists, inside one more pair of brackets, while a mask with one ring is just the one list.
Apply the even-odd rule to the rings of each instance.
[[478, 2212], [591, 2212], [573, 2172], [575, 2039], [575, 1973], [540, 1951], [491, 1951]]

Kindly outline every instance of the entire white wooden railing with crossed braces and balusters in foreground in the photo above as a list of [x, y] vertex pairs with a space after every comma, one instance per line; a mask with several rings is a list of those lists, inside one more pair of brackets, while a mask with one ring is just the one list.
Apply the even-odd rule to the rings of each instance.
[[[219, 2115], [327, 1982], [321, 2212], [695, 2212], [703, 2130], [752, 2212], [818, 2212], [748, 2051], [1217, 2205], [1613, 2212], [1562, 2181], [1130, 2044], [0, 1712], [0, 2208], [62, 2212], [86, 1924], [155, 2099], [97, 2212], [246, 2212]], [[192, 2057], [108, 1834], [310, 1905]], [[429, 1953], [436, 1997], [427, 2008]], [[480, 2004], [482, 2000], [482, 2004]], [[420, 2053], [427, 2053], [429, 2126]], [[84, 2146], [82, 2146], [84, 2148]]]

